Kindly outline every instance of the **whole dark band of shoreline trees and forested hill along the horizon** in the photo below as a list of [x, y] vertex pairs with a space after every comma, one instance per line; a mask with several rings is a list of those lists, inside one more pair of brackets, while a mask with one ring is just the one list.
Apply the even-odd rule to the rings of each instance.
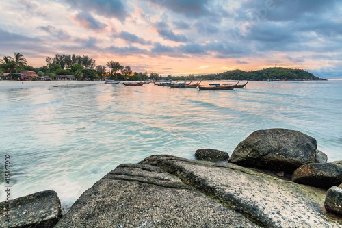
[[231, 80], [251, 80], [251, 81], [265, 81], [265, 80], [321, 80], [315, 77], [312, 73], [302, 69], [291, 69], [282, 67], [266, 68], [258, 71], [241, 71], [233, 70], [223, 73], [197, 75], [193, 74], [187, 76], [172, 76], [167, 75], [162, 77], [158, 73], [151, 72], [134, 72], [130, 66], [122, 66], [119, 62], [109, 61], [106, 65], [96, 66], [96, 61], [89, 58], [88, 55], [60, 55], [56, 54], [54, 57], [47, 57], [45, 59], [46, 66], [34, 68], [27, 65], [27, 60], [21, 53], [15, 53], [13, 56], [3, 56], [0, 60], [0, 77], [3, 73], [10, 73], [10, 79], [17, 79], [18, 72], [21, 71], [35, 71], [38, 76], [49, 76], [55, 78], [56, 75], [74, 75], [76, 79], [83, 80], [100, 80], [100, 79], [114, 79], [114, 80], [131, 80], [144, 81], [151, 80], [201, 80], [201, 79], [231, 79]]

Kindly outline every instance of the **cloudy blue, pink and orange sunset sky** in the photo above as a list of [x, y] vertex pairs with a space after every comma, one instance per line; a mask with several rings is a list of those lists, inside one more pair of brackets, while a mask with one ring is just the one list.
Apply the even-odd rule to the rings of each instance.
[[159, 75], [342, 72], [338, 0], [3, 0], [0, 12], [0, 57], [34, 67], [75, 54]]

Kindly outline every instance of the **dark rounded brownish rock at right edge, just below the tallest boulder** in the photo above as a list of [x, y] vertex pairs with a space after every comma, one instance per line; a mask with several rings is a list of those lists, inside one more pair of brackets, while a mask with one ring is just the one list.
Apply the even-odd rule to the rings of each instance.
[[342, 166], [332, 163], [304, 164], [295, 170], [292, 181], [326, 189], [339, 186], [342, 183]]

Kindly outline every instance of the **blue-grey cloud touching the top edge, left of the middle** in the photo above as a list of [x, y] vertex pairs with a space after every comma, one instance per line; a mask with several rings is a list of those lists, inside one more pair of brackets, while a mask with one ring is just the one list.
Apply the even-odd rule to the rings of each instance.
[[124, 4], [121, 0], [64, 0], [64, 2], [68, 3], [68, 5], [73, 8], [73, 10], [94, 12], [94, 14], [97, 14], [99, 16], [117, 18], [120, 21], [124, 21], [129, 15], [127, 10], [124, 8]]

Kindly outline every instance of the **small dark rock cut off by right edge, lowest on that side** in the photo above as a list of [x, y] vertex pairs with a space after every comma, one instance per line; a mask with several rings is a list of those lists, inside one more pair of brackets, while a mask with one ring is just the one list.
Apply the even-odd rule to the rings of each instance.
[[329, 212], [342, 215], [342, 189], [332, 186], [326, 192], [326, 201], [324, 207]]

